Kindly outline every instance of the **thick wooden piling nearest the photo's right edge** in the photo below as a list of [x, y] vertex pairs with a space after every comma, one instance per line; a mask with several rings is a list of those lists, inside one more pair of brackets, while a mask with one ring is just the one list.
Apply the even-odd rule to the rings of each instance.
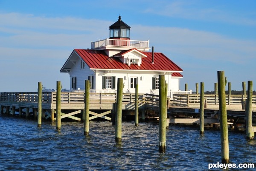
[[253, 81], [248, 81], [247, 105], [246, 105], [246, 138], [253, 139], [252, 136], [252, 103], [253, 103]]

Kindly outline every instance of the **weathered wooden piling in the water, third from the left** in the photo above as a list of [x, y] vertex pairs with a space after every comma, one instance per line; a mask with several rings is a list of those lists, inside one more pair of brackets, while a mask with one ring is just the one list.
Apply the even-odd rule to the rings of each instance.
[[85, 80], [84, 91], [84, 135], [89, 135], [89, 113], [90, 113], [90, 80]]

